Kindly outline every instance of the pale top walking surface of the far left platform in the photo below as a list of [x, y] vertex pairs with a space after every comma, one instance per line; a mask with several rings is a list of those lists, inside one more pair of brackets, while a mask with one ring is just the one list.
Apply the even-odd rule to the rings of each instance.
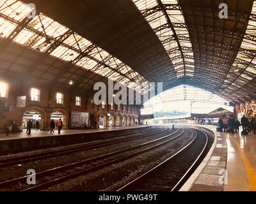
[[[73, 135], [77, 133], [95, 133], [95, 132], [104, 132], [104, 131], [115, 131], [120, 129], [134, 129], [134, 128], [145, 128], [148, 126], [126, 126], [126, 127], [115, 127], [115, 128], [100, 128], [100, 129], [61, 129], [60, 135]], [[58, 134], [58, 129], [54, 129], [54, 133], [50, 131], [36, 131], [35, 129], [31, 130], [31, 135], [26, 134], [26, 129], [20, 133], [9, 133], [9, 136], [6, 136], [6, 133], [0, 133], [1, 140], [13, 140], [13, 139], [22, 139], [22, 138], [38, 138], [42, 136], [56, 136]]]

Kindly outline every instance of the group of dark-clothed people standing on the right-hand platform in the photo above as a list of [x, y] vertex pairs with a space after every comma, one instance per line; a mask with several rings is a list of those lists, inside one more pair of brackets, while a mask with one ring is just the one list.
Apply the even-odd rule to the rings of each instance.
[[[256, 117], [256, 115], [255, 115]], [[256, 119], [255, 117], [252, 117], [250, 119], [247, 119], [245, 115], [241, 118], [241, 123], [237, 118], [235, 118], [233, 115], [230, 116], [227, 122], [223, 119], [219, 119], [218, 123], [220, 125], [220, 132], [230, 132], [230, 133], [239, 133], [239, 127], [243, 127], [242, 134], [248, 135], [248, 132], [253, 132], [255, 135], [256, 133]]]

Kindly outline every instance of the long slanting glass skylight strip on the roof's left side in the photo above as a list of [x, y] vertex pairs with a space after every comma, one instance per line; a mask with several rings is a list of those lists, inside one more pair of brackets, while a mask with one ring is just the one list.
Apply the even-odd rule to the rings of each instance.
[[0, 0], [0, 39], [10, 39], [19, 31], [12, 39], [15, 43], [72, 62], [127, 87], [136, 87], [136, 91], [141, 91], [137, 84], [147, 87], [147, 80], [129, 66], [43, 13], [27, 20], [32, 9], [22, 1]]

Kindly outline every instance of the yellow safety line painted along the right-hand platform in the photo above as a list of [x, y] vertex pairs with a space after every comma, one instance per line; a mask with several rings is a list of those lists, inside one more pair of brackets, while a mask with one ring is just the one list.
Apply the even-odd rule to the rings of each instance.
[[244, 153], [244, 150], [241, 149], [239, 143], [236, 141], [236, 139], [233, 136], [230, 136], [232, 142], [236, 145], [240, 156], [243, 160], [244, 163], [244, 168], [248, 177], [248, 180], [250, 182], [250, 187], [252, 191], [256, 191], [256, 173], [253, 170], [252, 164], [250, 163], [248, 157], [246, 156], [246, 154]]

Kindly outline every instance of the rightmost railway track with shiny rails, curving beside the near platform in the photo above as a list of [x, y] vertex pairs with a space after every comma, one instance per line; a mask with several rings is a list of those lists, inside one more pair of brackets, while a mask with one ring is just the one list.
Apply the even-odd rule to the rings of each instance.
[[196, 136], [186, 147], [117, 191], [179, 191], [207, 154], [207, 134], [193, 131]]

